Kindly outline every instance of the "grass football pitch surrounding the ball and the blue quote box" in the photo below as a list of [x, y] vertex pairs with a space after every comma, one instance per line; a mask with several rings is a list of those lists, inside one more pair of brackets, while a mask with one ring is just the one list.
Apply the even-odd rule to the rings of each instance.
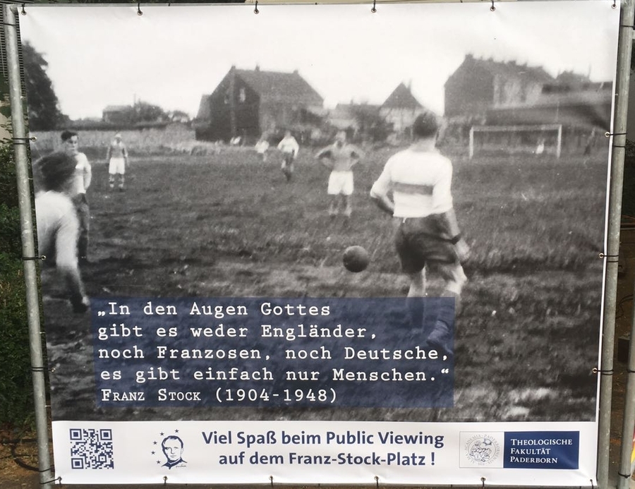
[[[356, 169], [353, 217], [327, 216], [327, 171], [301, 153], [287, 184], [274, 157], [133, 158], [127, 191], [93, 167], [89, 295], [403, 296], [392, 220], [368, 198], [395, 150]], [[454, 207], [472, 255], [456, 320], [452, 409], [104, 409], [101, 419], [368, 419], [591, 421], [595, 419], [603, 284], [606, 158], [454, 159]], [[372, 256], [341, 266], [346, 246]], [[88, 316], [73, 316], [43, 273], [54, 418], [95, 416]], [[231, 412], [230, 412], [231, 411]]]

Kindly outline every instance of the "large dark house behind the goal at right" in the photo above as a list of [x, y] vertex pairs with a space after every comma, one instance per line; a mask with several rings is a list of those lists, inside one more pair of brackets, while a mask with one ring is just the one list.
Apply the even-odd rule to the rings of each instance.
[[[612, 83], [591, 82], [572, 71], [554, 77], [541, 66], [466, 54], [444, 88], [444, 135], [456, 145], [467, 147], [474, 128], [500, 146], [504, 141], [509, 146], [510, 135], [524, 131], [524, 140], [534, 148], [536, 138], [550, 138], [560, 155], [584, 150], [596, 128], [610, 128]], [[545, 136], [545, 131], [552, 133]]]

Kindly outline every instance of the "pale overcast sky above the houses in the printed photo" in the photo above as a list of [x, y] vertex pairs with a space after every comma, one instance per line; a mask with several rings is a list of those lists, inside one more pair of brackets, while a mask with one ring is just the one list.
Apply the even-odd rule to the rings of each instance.
[[591, 80], [615, 78], [619, 8], [607, 0], [453, 4], [27, 5], [23, 40], [49, 63], [72, 119], [133, 100], [194, 116], [232, 65], [298, 70], [325, 99], [380, 104], [399, 83], [443, 113], [466, 54]]

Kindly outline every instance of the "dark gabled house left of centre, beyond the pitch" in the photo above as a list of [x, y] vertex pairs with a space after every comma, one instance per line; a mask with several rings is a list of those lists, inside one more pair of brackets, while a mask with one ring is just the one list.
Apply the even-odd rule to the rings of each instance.
[[203, 95], [195, 119], [199, 140], [255, 140], [262, 133], [306, 126], [320, 118], [324, 99], [298, 71], [281, 73], [232, 66], [210, 95]]

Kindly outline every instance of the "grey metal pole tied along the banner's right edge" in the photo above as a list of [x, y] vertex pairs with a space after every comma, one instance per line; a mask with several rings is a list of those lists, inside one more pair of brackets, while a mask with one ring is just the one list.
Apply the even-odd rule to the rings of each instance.
[[[633, 6], [634, 0], [622, 1], [620, 4], [622, 10], [620, 25], [633, 24]], [[615, 310], [617, 304], [617, 257], [619, 256], [619, 226], [622, 219], [622, 180], [624, 179], [624, 145], [626, 144], [629, 102], [631, 42], [631, 28], [620, 28], [617, 52], [615, 120], [613, 123], [613, 133], [615, 135], [612, 140], [607, 230], [608, 258], [604, 295], [602, 361], [600, 364], [600, 413], [598, 420], [598, 485], [600, 485], [600, 488], [608, 487], [610, 464], [612, 371], [615, 342]], [[631, 440], [632, 433], [631, 428], [631, 434], [628, 436], [629, 440]]]

